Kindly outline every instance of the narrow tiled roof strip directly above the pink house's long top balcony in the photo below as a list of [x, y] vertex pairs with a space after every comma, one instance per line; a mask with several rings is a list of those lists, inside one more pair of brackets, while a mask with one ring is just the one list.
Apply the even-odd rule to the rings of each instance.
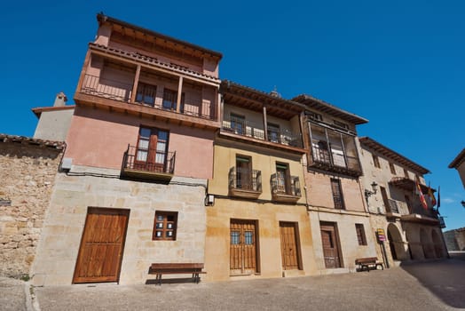
[[219, 79], [217, 77], [215, 77], [215, 76], [205, 75], [205, 74], [202, 74], [202, 73], [200, 73], [198, 71], [193, 71], [193, 70], [191, 70], [189, 68], [180, 67], [180, 66], [177, 66], [177, 65], [174, 65], [174, 64], [167, 64], [167, 63], [164, 63], [164, 62], [162, 62], [160, 60], [157, 60], [154, 57], [149, 57], [149, 56], [143, 55], [143, 54], [138, 53], [138, 52], [124, 51], [124, 50], [121, 50], [121, 49], [115, 49], [113, 47], [107, 47], [105, 45], [94, 44], [94, 43], [90, 43], [89, 46], [91, 47], [91, 49], [94, 49], [94, 50], [97, 50], [97, 51], [111, 53], [113, 55], [118, 55], [118, 56], [130, 58], [131, 60], [137, 60], [137, 61], [149, 64], [149, 65], [154, 65], [154, 66], [161, 67], [161, 68], [167, 68], [167, 69], [174, 70], [174, 71], [177, 71], [177, 72], [183, 73], [183, 74], [188, 74], [188, 75], [192, 75], [192, 76], [199, 76], [199, 77], [202, 77], [202, 78], [207, 78], [212, 82], [219, 83]]

